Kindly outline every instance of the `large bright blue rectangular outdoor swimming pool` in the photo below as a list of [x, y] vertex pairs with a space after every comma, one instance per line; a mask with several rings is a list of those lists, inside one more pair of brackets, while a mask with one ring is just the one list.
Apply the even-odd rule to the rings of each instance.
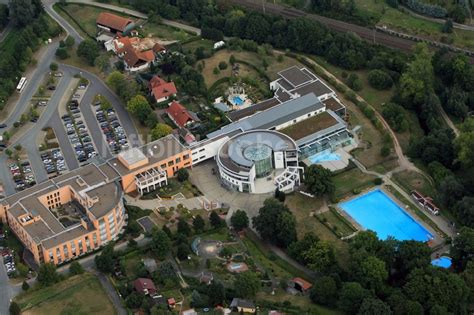
[[400, 241], [425, 242], [433, 237], [380, 189], [340, 203], [339, 206], [363, 228], [376, 232], [383, 240], [392, 236]]

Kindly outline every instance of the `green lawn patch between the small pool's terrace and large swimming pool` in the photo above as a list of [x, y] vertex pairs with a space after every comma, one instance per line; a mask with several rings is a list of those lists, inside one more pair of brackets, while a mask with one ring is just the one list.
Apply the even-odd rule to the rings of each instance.
[[374, 176], [362, 173], [358, 168], [339, 173], [333, 177], [336, 186], [335, 197], [342, 199], [351, 196], [354, 190], [362, 191], [374, 185]]

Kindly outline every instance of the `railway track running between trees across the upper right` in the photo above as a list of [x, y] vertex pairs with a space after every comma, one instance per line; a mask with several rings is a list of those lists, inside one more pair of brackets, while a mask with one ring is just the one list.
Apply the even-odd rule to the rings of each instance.
[[[287, 8], [282, 5], [273, 4], [273, 3], [263, 3], [260, 0], [229, 0], [231, 3], [236, 5], [241, 5], [243, 7], [247, 7], [252, 10], [265, 12], [273, 15], [279, 15], [284, 18], [297, 18], [297, 17], [307, 17], [313, 19], [315, 21], [320, 22], [321, 24], [327, 26], [329, 29], [337, 31], [337, 32], [353, 32], [357, 34], [360, 38], [379, 45], [387, 46], [390, 48], [399, 49], [405, 52], [410, 52], [413, 46], [421, 41], [418, 38], [410, 39], [410, 38], [402, 38], [397, 37], [395, 35], [391, 35], [389, 32], [383, 32], [381, 30], [377, 30], [376, 28], [370, 29], [367, 27], [359, 26], [350, 24], [347, 22], [327, 18], [324, 16], [316, 15], [316, 14], [309, 14], [301, 10], [297, 10], [294, 8]], [[433, 45], [433, 43], [428, 42], [428, 44], [432, 45], [432, 48], [437, 49], [440, 47], [440, 44], [437, 43]], [[449, 48], [449, 47], [448, 47]], [[461, 52], [468, 55], [470, 62], [474, 63], [473, 53], [465, 50], [461, 50], [459, 48], [452, 48], [452, 51]]]

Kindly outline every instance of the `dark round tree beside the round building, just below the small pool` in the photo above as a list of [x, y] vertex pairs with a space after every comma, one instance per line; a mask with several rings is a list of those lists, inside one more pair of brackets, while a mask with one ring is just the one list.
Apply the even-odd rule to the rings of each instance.
[[304, 184], [316, 196], [332, 195], [335, 191], [332, 172], [318, 164], [307, 168]]

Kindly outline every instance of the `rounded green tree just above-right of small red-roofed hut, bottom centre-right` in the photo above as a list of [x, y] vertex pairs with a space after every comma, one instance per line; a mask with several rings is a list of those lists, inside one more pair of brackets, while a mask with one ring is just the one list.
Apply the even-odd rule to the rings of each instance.
[[336, 264], [334, 247], [327, 241], [314, 243], [303, 257], [309, 268], [322, 273], [329, 272]]

